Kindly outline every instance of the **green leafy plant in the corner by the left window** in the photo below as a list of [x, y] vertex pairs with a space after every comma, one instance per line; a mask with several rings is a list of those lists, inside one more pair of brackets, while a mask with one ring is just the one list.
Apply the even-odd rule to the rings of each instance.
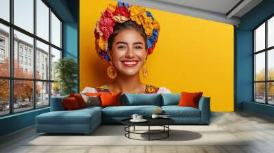
[[[77, 63], [71, 57], [64, 57], [55, 62], [55, 86], [60, 87], [61, 96], [75, 93], [73, 88], [77, 85]], [[54, 87], [55, 87], [54, 86]]]

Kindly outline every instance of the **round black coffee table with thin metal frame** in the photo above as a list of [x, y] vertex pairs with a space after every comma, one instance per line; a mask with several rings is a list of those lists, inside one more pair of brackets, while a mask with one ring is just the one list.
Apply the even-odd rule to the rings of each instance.
[[[122, 120], [122, 124], [125, 125], [125, 137], [129, 139], [135, 139], [130, 137], [131, 133], [134, 134], [140, 134], [140, 135], [148, 135], [149, 139], [136, 139], [136, 140], [160, 140], [165, 139], [169, 137], [169, 131], [171, 128], [169, 128], [169, 125], [174, 124], [175, 121], [170, 118], [147, 118], [147, 122], [131, 122], [131, 118]], [[130, 127], [134, 127], [134, 130], [130, 130]], [[147, 130], [135, 130], [135, 126], [148, 126]], [[162, 130], [153, 130], [151, 129], [151, 126], [162, 126]], [[143, 131], [147, 131], [147, 133], [140, 133]], [[159, 134], [165, 134], [164, 137], [160, 137], [158, 139], [151, 139], [151, 135], [159, 135]]]

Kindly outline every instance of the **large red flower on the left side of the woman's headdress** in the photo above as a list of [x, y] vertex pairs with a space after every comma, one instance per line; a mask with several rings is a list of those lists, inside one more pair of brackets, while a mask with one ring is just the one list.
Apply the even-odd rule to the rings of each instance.
[[99, 29], [102, 31], [105, 38], [108, 39], [110, 37], [110, 34], [113, 32], [114, 25], [115, 23], [111, 18], [101, 18], [99, 23]]

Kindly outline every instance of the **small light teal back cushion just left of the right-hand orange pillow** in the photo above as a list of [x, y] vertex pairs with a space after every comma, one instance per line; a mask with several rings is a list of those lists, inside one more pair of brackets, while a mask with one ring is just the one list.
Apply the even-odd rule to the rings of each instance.
[[181, 94], [162, 94], [162, 106], [178, 105]]

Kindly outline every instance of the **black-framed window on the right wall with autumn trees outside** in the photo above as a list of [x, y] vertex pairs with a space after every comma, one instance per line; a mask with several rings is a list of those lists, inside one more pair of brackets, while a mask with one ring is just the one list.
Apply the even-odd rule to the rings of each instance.
[[253, 31], [254, 101], [274, 105], [274, 16]]

